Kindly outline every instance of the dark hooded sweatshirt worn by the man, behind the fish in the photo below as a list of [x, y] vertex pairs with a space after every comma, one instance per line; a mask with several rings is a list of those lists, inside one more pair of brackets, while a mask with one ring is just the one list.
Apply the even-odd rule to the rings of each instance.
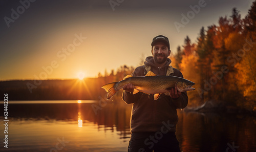
[[[147, 57], [144, 66], [137, 67], [132, 75], [145, 76], [148, 71], [156, 75], [173, 75], [182, 77], [182, 73], [169, 66], [172, 62], [167, 59], [163, 67], [154, 64], [153, 57]], [[122, 99], [125, 103], [133, 103], [130, 126], [131, 132], [175, 132], [178, 122], [177, 108], [184, 108], [187, 105], [188, 97], [182, 92], [179, 98], [171, 98], [169, 94], [161, 94], [157, 100], [154, 95], [142, 92], [132, 94], [123, 91]]]

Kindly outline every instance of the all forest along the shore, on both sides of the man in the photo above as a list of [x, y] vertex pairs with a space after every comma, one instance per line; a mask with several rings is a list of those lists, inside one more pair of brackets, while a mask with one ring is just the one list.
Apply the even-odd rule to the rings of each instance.
[[[188, 106], [218, 100], [256, 111], [256, 1], [245, 18], [233, 8], [231, 16], [219, 18], [218, 25], [202, 27], [196, 43], [186, 36], [170, 59], [185, 79], [196, 83], [196, 90], [187, 92]], [[133, 70], [121, 66], [83, 81], [42, 80], [32, 93], [27, 84], [35, 80], [1, 81], [0, 92], [8, 93], [9, 100], [98, 100], [106, 94], [102, 85], [120, 81]], [[121, 91], [114, 97], [120, 100], [120, 95]]]

